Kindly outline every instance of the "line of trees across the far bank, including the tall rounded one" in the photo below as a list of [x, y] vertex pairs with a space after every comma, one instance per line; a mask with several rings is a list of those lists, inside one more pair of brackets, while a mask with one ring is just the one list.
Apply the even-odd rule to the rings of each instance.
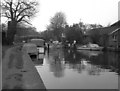
[[50, 20], [47, 30], [41, 32], [41, 36], [47, 41], [57, 40], [59, 42], [73, 43], [75, 40], [78, 44], [86, 44], [92, 42], [92, 39], [96, 39], [95, 36], [90, 36], [87, 39], [87, 32], [91, 29], [103, 27], [100, 24], [85, 24], [80, 20], [79, 23], [68, 25], [64, 13], [58, 12]]

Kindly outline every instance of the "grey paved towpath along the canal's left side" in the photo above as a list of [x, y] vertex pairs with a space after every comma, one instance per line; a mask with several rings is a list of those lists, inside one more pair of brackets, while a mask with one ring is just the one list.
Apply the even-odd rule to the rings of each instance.
[[34, 63], [20, 46], [9, 48], [2, 59], [2, 89], [46, 90]]

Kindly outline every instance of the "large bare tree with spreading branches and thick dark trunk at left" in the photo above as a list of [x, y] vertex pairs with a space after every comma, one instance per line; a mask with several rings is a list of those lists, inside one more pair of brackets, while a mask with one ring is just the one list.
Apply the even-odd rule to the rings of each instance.
[[29, 23], [28, 20], [37, 13], [38, 2], [31, 0], [4, 0], [2, 2], [2, 16], [8, 18], [7, 37], [12, 43], [16, 34], [17, 24]]

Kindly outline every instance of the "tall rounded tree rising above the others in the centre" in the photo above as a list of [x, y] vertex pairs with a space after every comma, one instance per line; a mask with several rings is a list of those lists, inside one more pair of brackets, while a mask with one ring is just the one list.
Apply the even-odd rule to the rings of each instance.
[[66, 17], [63, 12], [57, 12], [55, 16], [51, 18], [49, 28], [53, 31], [57, 40], [61, 39], [66, 24]]

